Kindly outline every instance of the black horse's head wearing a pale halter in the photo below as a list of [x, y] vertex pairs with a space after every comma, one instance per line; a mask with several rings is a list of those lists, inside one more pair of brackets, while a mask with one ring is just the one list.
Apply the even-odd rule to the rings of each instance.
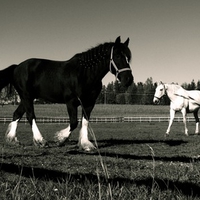
[[130, 68], [131, 51], [128, 48], [129, 38], [121, 43], [118, 37], [111, 48], [110, 54], [110, 72], [116, 76], [121, 84], [128, 87], [133, 82], [133, 75]]

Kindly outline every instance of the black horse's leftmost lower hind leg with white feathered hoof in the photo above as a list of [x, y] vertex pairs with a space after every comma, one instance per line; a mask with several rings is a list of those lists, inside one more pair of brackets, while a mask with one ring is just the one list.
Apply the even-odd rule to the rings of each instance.
[[7, 143], [19, 144], [19, 141], [16, 137], [16, 130], [19, 120], [22, 118], [25, 113], [24, 106], [20, 103], [15, 112], [13, 113], [13, 121], [8, 125], [5, 139]]

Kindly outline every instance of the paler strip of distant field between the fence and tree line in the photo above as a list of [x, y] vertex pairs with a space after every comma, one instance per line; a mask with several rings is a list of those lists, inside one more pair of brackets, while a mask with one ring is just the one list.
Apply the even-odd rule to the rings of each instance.
[[[5, 105], [0, 107], [0, 117], [11, 117], [17, 106]], [[64, 104], [35, 105], [36, 117], [66, 117], [67, 109]], [[79, 115], [81, 109], [79, 107]], [[91, 117], [127, 117], [127, 116], [169, 116], [169, 106], [160, 105], [112, 105], [96, 104]]]

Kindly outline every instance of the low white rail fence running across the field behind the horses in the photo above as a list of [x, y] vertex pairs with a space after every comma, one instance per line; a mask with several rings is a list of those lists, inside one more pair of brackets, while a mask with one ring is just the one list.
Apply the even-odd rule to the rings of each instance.
[[[169, 117], [149, 117], [149, 116], [143, 116], [143, 117], [93, 117], [90, 119], [90, 122], [93, 123], [117, 123], [117, 122], [168, 122]], [[0, 117], [0, 123], [6, 124], [10, 123], [12, 121], [12, 118], [8, 117]], [[79, 119], [81, 121], [81, 119]], [[182, 117], [175, 117], [174, 122], [182, 122]], [[194, 122], [195, 119], [193, 117], [187, 117], [188, 122]], [[28, 123], [26, 118], [22, 118], [20, 120], [21, 123]], [[37, 123], [68, 123], [69, 118], [66, 117], [40, 117], [37, 118]]]

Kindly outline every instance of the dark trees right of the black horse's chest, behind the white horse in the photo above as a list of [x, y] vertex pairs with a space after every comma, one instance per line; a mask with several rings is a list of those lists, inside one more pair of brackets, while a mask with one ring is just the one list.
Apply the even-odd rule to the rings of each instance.
[[[183, 83], [181, 85], [186, 90], [200, 90], [200, 80], [195, 83]], [[97, 99], [101, 104], [153, 104], [153, 98], [157, 83], [153, 82], [152, 77], [143, 82], [133, 83], [127, 90], [123, 88], [118, 81], [111, 82], [103, 86], [102, 91]], [[162, 105], [169, 105], [170, 100], [164, 96], [161, 100]]]

